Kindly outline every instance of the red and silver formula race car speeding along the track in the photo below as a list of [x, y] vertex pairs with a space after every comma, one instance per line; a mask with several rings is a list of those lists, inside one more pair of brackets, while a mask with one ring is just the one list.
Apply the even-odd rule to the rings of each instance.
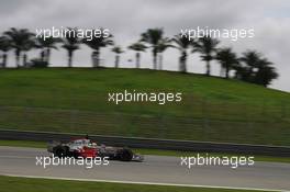
[[97, 145], [88, 138], [71, 139], [69, 143], [51, 142], [47, 146], [47, 151], [54, 156], [75, 157], [75, 158], [96, 158], [108, 157], [110, 160], [121, 161], [143, 161], [144, 157], [134, 154], [130, 148], [111, 147], [105, 145]]

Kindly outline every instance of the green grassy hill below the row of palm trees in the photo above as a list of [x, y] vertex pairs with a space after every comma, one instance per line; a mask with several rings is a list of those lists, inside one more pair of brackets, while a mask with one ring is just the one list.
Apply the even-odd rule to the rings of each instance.
[[[0, 128], [290, 146], [290, 93], [137, 69], [2, 69]], [[108, 102], [108, 92], [182, 92], [182, 102]]]

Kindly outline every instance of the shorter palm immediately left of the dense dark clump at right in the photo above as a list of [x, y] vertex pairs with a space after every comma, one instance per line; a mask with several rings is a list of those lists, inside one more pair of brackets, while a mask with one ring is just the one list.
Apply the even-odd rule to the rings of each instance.
[[238, 64], [236, 54], [233, 53], [232, 48], [230, 47], [220, 48], [217, 49], [215, 59], [220, 61], [221, 69], [225, 69], [225, 78], [228, 79], [230, 70], [233, 69], [234, 65]]

